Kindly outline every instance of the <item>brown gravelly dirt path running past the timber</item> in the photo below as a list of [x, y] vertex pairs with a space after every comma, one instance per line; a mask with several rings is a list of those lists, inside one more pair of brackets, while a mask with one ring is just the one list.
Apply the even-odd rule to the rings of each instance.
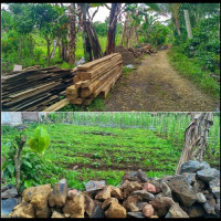
[[124, 75], [105, 101], [106, 112], [214, 112], [220, 104], [179, 75], [168, 50], [148, 55]]

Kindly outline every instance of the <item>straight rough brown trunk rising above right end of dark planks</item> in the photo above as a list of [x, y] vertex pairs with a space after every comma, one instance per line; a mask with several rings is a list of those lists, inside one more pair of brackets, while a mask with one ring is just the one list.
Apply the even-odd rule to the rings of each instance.
[[75, 62], [75, 51], [76, 51], [76, 15], [75, 15], [75, 3], [71, 3], [69, 7], [69, 63], [70, 65]]

